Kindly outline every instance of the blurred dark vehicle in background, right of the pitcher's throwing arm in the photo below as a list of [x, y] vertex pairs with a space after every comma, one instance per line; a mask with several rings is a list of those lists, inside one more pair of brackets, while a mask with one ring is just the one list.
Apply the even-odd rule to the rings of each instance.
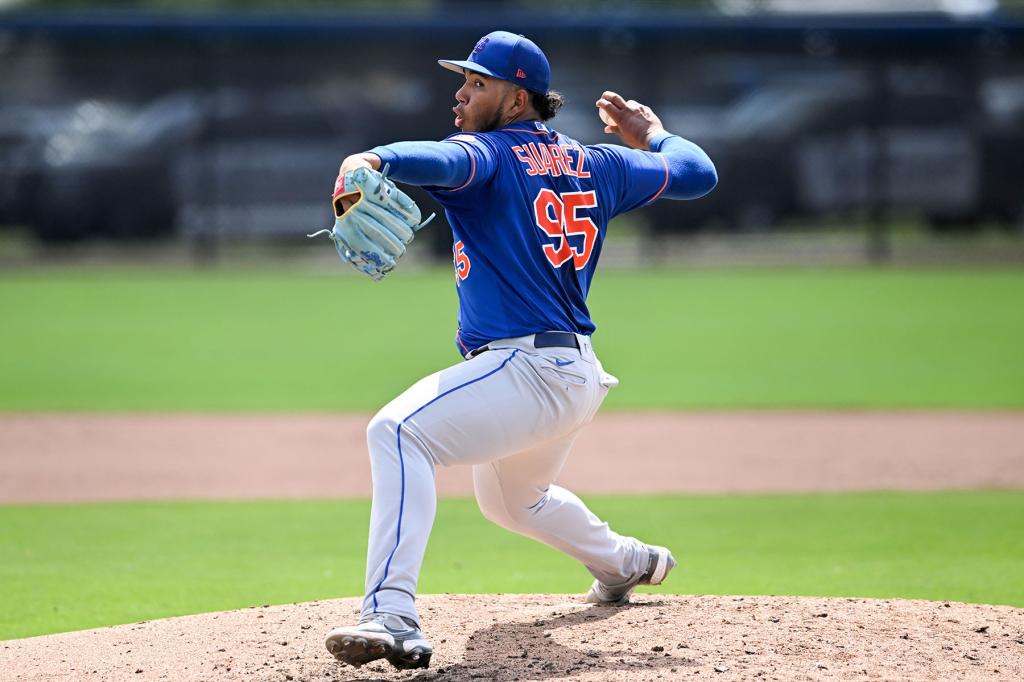
[[895, 66], [873, 75], [792, 75], [697, 115], [686, 130], [731, 181], [701, 202], [655, 205], [655, 230], [762, 231], [790, 219], [856, 218], [872, 207], [936, 230], [1022, 223], [1020, 79], [977, 87], [961, 74]]

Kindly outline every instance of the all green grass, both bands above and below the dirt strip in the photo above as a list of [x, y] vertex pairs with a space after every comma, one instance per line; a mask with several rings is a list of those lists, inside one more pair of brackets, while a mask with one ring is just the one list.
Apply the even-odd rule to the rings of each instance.
[[[591, 295], [623, 380], [606, 406], [670, 410], [1019, 410], [1022, 301], [1020, 270], [607, 271]], [[8, 271], [0, 314], [0, 412], [372, 411], [459, 360], [446, 268]], [[588, 501], [678, 552], [672, 592], [1024, 606], [1024, 492]], [[438, 514], [423, 593], [589, 584], [471, 501]], [[0, 639], [356, 595], [368, 520], [364, 501], [0, 505]]]

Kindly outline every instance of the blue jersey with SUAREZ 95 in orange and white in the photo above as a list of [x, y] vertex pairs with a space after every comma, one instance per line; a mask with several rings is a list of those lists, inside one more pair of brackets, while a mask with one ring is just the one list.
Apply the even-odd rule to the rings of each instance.
[[460, 352], [538, 332], [593, 333], [587, 293], [608, 221], [665, 193], [664, 156], [584, 146], [534, 121], [444, 141], [471, 162], [462, 186], [427, 187], [455, 238]]

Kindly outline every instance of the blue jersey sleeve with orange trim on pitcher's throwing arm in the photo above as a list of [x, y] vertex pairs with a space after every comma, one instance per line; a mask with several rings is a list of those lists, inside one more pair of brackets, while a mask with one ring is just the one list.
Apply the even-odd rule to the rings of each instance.
[[617, 144], [587, 147], [595, 183], [606, 206], [608, 217], [646, 206], [669, 186], [669, 164], [660, 154], [631, 150]]

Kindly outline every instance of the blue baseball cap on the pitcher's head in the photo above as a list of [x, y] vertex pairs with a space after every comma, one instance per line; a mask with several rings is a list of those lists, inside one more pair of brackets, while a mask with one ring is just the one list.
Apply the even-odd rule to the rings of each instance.
[[468, 70], [541, 94], [547, 93], [551, 82], [548, 57], [537, 43], [508, 31], [495, 31], [480, 38], [465, 61], [438, 59], [437, 63], [457, 74]]

